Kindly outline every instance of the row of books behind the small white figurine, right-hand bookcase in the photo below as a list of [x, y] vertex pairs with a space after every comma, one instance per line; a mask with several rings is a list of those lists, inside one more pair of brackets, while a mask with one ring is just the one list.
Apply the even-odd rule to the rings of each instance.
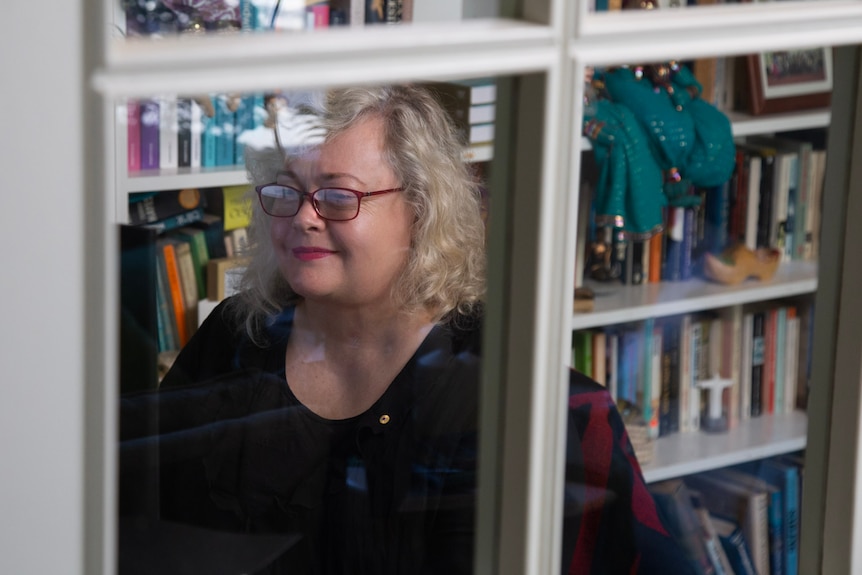
[[702, 383], [728, 380], [721, 417], [733, 427], [806, 406], [812, 328], [810, 298], [733, 306], [577, 331], [572, 365], [637, 405], [653, 437], [700, 430]]

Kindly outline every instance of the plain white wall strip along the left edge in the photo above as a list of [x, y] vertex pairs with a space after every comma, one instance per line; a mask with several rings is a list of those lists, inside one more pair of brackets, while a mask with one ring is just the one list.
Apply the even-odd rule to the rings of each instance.
[[84, 572], [82, 6], [0, 34], [0, 573]]

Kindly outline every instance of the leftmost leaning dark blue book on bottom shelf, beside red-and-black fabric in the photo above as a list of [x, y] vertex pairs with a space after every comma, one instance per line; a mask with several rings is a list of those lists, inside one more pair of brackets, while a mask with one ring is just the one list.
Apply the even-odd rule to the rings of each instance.
[[700, 575], [714, 575], [715, 567], [709, 559], [686, 483], [681, 479], [669, 479], [649, 485], [649, 491], [663, 523], [682, 547], [695, 572]]

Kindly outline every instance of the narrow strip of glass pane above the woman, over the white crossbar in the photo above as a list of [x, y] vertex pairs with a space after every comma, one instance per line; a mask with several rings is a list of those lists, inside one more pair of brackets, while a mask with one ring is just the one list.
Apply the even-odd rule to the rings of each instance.
[[496, 0], [122, 0], [127, 36], [299, 32], [335, 26], [460, 21], [499, 16]]

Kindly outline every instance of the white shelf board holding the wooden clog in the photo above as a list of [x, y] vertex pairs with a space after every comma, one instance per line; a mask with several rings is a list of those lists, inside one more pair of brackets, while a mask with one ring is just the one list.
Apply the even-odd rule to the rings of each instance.
[[595, 294], [594, 308], [572, 316], [573, 330], [813, 293], [817, 264], [785, 262], [769, 281], [751, 279], [736, 286], [703, 279], [634, 286], [586, 281], [584, 285]]

